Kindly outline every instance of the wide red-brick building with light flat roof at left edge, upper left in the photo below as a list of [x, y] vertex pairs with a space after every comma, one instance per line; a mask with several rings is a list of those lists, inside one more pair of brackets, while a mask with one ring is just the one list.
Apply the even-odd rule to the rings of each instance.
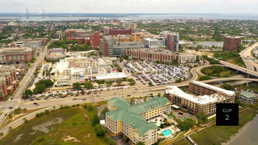
[[5, 47], [0, 49], [0, 63], [25, 63], [30, 62], [36, 55], [34, 47]]

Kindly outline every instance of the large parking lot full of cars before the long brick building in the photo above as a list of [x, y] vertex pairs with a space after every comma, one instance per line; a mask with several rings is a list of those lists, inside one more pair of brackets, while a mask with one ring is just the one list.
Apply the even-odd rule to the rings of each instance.
[[182, 65], [172, 66], [144, 61], [126, 62], [123, 66], [129, 67], [134, 72], [132, 78], [136, 80], [136, 84], [142, 84], [139, 86], [148, 86], [150, 82], [152, 82], [152, 86], [166, 85], [175, 83], [178, 78], [181, 78], [182, 81], [191, 78], [189, 68]]

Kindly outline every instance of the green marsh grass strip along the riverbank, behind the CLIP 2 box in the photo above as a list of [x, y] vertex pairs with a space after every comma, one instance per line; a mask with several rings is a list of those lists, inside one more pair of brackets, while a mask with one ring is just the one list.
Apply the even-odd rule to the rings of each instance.
[[251, 121], [254, 116], [255, 111], [253, 109], [247, 109], [239, 113], [239, 126], [213, 125], [190, 136], [195, 142], [197, 142], [198, 145], [220, 145], [221, 142], [227, 142], [232, 134], [237, 133], [238, 130], [247, 122]]

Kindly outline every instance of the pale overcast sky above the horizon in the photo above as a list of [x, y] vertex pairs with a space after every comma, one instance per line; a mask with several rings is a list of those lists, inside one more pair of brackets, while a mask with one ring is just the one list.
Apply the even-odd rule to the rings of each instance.
[[258, 0], [0, 0], [0, 13], [258, 13]]

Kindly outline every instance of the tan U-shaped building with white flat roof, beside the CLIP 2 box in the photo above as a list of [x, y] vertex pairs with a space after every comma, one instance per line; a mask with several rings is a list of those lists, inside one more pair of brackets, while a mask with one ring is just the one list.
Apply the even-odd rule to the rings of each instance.
[[[197, 81], [193, 82], [198, 83]], [[202, 85], [203, 84], [204, 83], [202, 83]], [[208, 84], [205, 85], [208, 86], [207, 89], [213, 87]], [[189, 112], [193, 115], [203, 112], [212, 115], [216, 113], [216, 103], [234, 102], [235, 93], [222, 88], [213, 87], [212, 90], [218, 91], [212, 91], [212, 93], [206, 92], [203, 96], [187, 94], [176, 86], [167, 86], [165, 88], [167, 99], [173, 104], [172, 107], [176, 109], [181, 108], [182, 111]], [[191, 90], [188, 88], [188, 91], [190, 92]], [[205, 93], [205, 91], [203, 93]]]

